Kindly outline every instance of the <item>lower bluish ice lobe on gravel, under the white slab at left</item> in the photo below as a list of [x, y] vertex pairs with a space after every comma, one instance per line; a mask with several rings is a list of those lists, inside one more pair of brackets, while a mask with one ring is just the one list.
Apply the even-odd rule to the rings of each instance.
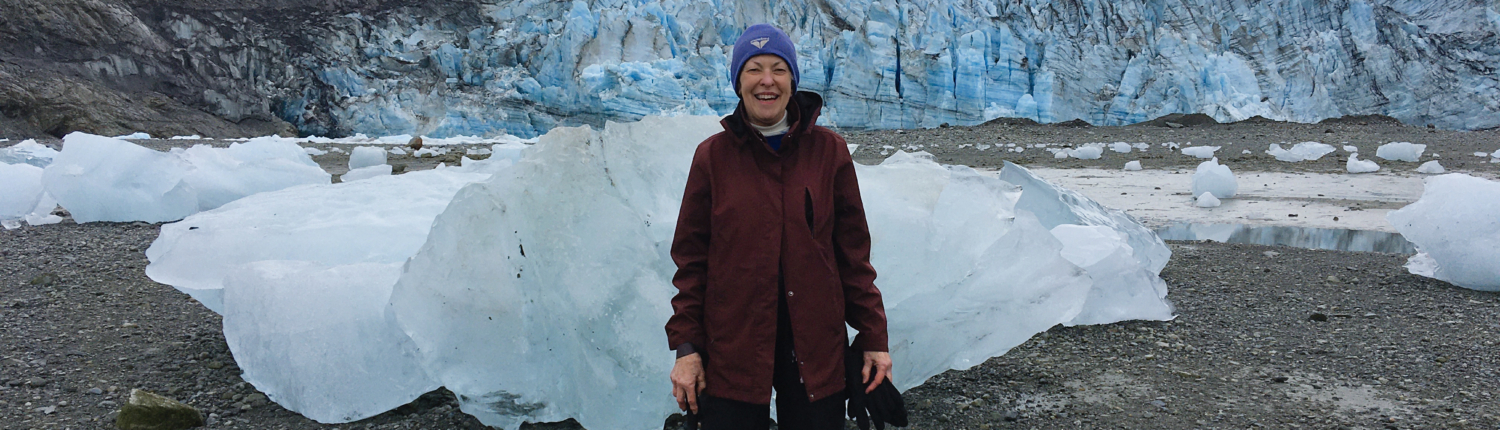
[[225, 276], [224, 339], [242, 378], [297, 414], [348, 423], [436, 390], [387, 318], [400, 264], [258, 261]]

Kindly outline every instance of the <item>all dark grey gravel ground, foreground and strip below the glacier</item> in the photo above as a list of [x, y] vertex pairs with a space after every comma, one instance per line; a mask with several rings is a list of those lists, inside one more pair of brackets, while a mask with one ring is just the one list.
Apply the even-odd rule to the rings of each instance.
[[[1221, 159], [1236, 171], [1341, 171], [1334, 159], [1342, 151], [1305, 163], [1263, 151], [1282, 141], [1347, 141], [1372, 156], [1382, 142], [1410, 141], [1428, 144], [1450, 169], [1500, 169], [1472, 154], [1500, 150], [1500, 132], [1426, 130], [1378, 118], [1185, 127], [992, 123], [848, 136], [861, 144], [862, 162], [878, 162], [884, 145], [921, 144], [940, 162], [974, 166], [1000, 159], [1118, 166], [1125, 154], [1054, 160], [1040, 150], [1002, 156], [975, 145], [1238, 139], [1244, 144], [1220, 150], [1232, 153]], [[1242, 148], [1252, 154], [1239, 154]], [[1160, 147], [1138, 156], [1148, 169], [1197, 163]], [[334, 174], [346, 162], [316, 159]], [[412, 169], [435, 163], [410, 162]], [[111, 429], [132, 388], [198, 408], [207, 429], [483, 427], [442, 390], [338, 426], [268, 403], [240, 379], [219, 316], [144, 276], [144, 250], [158, 231], [70, 220], [0, 231], [0, 429]], [[1172, 249], [1161, 276], [1172, 286], [1174, 321], [1058, 327], [1004, 357], [939, 375], [906, 394], [910, 429], [1500, 429], [1500, 294], [1407, 274], [1400, 255], [1218, 243]]]

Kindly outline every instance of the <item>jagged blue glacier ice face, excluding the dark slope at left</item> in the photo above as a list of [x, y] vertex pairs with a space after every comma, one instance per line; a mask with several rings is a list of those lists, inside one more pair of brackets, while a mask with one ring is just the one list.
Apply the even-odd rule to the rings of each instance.
[[[1500, 126], [1500, 18], [1482, 1], [500, 1], [483, 25], [344, 16], [320, 81], [382, 133], [536, 135], [580, 118], [726, 114], [728, 45], [784, 27], [828, 124], [994, 117], [1128, 124], [1386, 114]], [[423, 63], [418, 84], [387, 64]], [[434, 79], [442, 79], [434, 82]], [[1442, 102], [1438, 102], [1442, 100]], [[294, 120], [294, 118], [290, 118]]]

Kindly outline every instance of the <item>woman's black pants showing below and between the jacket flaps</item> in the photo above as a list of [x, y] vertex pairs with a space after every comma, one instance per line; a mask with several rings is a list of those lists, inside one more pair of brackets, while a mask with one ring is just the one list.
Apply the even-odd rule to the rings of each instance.
[[[844, 396], [831, 396], [807, 402], [807, 387], [796, 370], [796, 352], [792, 349], [792, 316], [786, 307], [786, 291], [777, 301], [776, 318], [776, 370], [771, 388], [776, 388], [776, 415], [780, 430], [842, 430], [844, 429]], [[718, 397], [699, 397], [698, 417], [704, 430], [765, 430], [771, 427], [771, 405], [754, 405]]]

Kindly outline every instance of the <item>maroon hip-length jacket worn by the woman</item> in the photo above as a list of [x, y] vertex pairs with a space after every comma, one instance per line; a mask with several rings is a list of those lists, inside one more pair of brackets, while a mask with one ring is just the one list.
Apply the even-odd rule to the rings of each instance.
[[771, 403], [777, 273], [808, 400], [844, 390], [844, 322], [860, 331], [855, 348], [888, 351], [854, 159], [843, 138], [813, 124], [820, 109], [820, 96], [796, 93], [776, 153], [741, 105], [693, 154], [666, 336], [704, 354], [706, 396]]

